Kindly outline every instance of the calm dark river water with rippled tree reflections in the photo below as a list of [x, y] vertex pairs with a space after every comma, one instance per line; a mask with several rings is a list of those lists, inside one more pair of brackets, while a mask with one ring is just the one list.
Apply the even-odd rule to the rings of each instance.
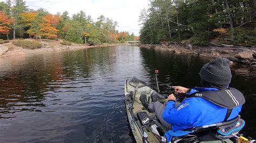
[[[191, 88], [200, 86], [198, 73], [209, 61], [136, 46], [1, 58], [0, 142], [132, 142], [125, 79], [156, 87], [151, 78], [159, 69], [161, 82]], [[244, 133], [256, 138], [255, 69], [233, 66], [232, 73], [231, 87], [246, 97]]]

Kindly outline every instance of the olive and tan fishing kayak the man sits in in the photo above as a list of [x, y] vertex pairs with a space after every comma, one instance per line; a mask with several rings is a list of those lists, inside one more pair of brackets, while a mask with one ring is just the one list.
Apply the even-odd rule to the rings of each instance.
[[[145, 82], [138, 80], [136, 77], [128, 78], [125, 81], [125, 107], [127, 112], [127, 118], [131, 127], [131, 132], [133, 134], [134, 140], [136, 142], [166, 142], [164, 138], [164, 130], [157, 120], [154, 113], [150, 113], [144, 109], [142, 103], [140, 102], [140, 94], [146, 92], [147, 100], [151, 102], [150, 96], [155, 90], [151, 89], [146, 85]], [[160, 94], [159, 94], [160, 95]], [[166, 99], [164, 97], [158, 98], [159, 102], [164, 102]], [[237, 140], [237, 138], [233, 138]], [[177, 139], [172, 142], [184, 142], [185, 139]], [[191, 142], [187, 140], [186, 142]], [[196, 141], [199, 142], [199, 141]], [[205, 142], [222, 142], [218, 141], [205, 141]], [[230, 139], [225, 139], [225, 142], [233, 142]]]

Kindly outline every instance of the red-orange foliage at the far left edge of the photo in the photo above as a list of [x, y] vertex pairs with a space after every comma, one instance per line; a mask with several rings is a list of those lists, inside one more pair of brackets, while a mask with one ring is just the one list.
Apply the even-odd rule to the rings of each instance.
[[8, 25], [11, 23], [12, 23], [12, 20], [9, 19], [9, 17], [6, 16], [3, 11], [0, 11], [0, 33], [8, 34], [10, 31], [10, 28], [8, 27]]

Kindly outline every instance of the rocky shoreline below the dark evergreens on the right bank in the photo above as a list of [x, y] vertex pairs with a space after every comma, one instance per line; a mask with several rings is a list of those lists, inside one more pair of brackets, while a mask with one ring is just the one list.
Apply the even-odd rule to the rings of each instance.
[[[139, 47], [159, 49], [179, 54], [194, 54], [210, 58], [223, 57], [232, 62], [241, 63], [256, 67], [256, 48], [233, 47], [232, 45], [201, 47], [188, 43], [161, 43], [161, 44], [140, 44]], [[232, 47], [231, 47], [232, 46]]]

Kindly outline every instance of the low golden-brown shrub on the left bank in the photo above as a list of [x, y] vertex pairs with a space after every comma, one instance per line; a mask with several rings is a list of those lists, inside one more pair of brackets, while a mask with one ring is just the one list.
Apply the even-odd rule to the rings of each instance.
[[42, 44], [35, 40], [12, 40], [12, 44], [26, 49], [36, 49], [42, 47]]

